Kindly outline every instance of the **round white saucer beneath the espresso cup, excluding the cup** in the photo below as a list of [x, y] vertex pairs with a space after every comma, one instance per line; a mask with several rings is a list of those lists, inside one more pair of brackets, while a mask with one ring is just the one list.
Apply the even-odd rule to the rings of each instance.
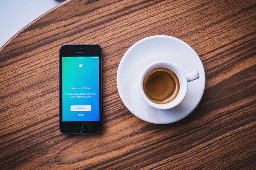
[[[185, 74], [197, 70], [200, 76], [188, 83], [185, 99], [172, 109], [149, 106], [138, 89], [142, 70], [159, 60], [177, 63]], [[149, 123], [168, 124], [183, 119], [198, 106], [204, 94], [205, 72], [200, 58], [188, 44], [167, 35], [155, 35], [138, 41], [126, 51], [118, 66], [116, 82], [120, 98], [130, 112]]]

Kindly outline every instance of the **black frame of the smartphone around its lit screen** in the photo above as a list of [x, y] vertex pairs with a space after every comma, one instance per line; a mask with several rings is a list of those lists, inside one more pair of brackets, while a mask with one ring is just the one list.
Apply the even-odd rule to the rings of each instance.
[[[62, 57], [99, 57], [99, 97], [100, 97], [100, 121], [62, 121]], [[62, 45], [59, 51], [59, 129], [63, 134], [92, 134], [102, 131], [102, 49], [98, 44], [67, 44]], [[82, 124], [85, 130], [78, 131]]]

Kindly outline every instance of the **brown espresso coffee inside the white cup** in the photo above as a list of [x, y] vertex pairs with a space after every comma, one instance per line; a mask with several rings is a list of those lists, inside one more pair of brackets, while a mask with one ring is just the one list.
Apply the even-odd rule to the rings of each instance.
[[143, 90], [152, 102], [166, 104], [176, 98], [180, 83], [172, 70], [158, 67], [150, 70], [144, 77]]

